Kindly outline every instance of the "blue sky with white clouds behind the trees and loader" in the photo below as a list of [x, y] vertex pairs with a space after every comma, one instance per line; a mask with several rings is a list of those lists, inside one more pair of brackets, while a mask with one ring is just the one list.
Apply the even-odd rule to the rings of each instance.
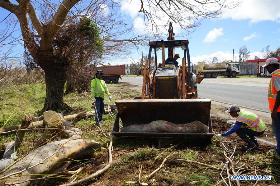
[[[83, 1], [83, 3], [87, 2], [88, 0]], [[150, 32], [150, 28], [145, 31], [143, 29], [144, 16], [138, 12], [139, 2], [140, 0], [122, 0], [118, 12], [128, 25], [133, 25], [135, 32], [145, 34]], [[234, 60], [238, 60], [238, 50], [243, 45], [246, 45], [251, 52], [249, 59], [254, 59], [255, 56], [262, 58], [261, 50], [267, 45], [270, 45], [270, 50], [280, 47], [280, 1], [240, 2], [239, 7], [225, 9], [220, 18], [202, 20], [201, 25], [186, 37], [182, 37], [178, 25], [173, 23], [175, 39], [189, 39], [190, 56], [194, 64], [198, 61], [211, 61], [213, 57], [217, 57], [218, 61], [231, 60], [233, 49]], [[7, 16], [8, 11], [2, 8], [0, 11], [2, 20]], [[167, 19], [162, 17], [160, 21], [164, 22], [164, 20]], [[4, 24], [0, 26], [3, 29]], [[167, 29], [162, 28], [166, 34]], [[166, 39], [166, 36], [163, 35], [163, 38]], [[15, 50], [22, 51], [20, 47]], [[144, 54], [147, 54], [145, 48], [143, 50]], [[131, 55], [125, 59], [110, 57], [106, 61], [111, 64], [124, 64], [140, 57], [141, 54], [137, 50], [132, 50]]]

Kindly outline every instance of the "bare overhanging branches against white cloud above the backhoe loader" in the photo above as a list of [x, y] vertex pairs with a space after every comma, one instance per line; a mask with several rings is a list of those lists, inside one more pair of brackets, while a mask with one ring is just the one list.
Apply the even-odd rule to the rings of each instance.
[[[181, 29], [192, 32], [193, 28], [200, 25], [203, 18], [211, 19], [221, 15], [223, 9], [234, 8], [239, 5], [234, 1], [206, 0], [140, 0], [140, 11], [144, 14], [145, 24], [151, 25], [152, 30], [162, 32], [162, 27], [170, 21], [178, 24]], [[166, 17], [167, 20], [163, 19]], [[163, 33], [166, 34], [166, 33]]]

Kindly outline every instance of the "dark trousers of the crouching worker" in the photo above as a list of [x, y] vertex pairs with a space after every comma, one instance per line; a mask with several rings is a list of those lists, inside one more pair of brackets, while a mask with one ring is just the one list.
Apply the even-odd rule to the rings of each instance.
[[[264, 130], [265, 131], [265, 130]], [[240, 128], [236, 131], [236, 134], [243, 139], [245, 143], [248, 143], [248, 145], [258, 145], [257, 139], [255, 136], [263, 135], [264, 131], [262, 132], [256, 132], [254, 130], [248, 129], [248, 128]], [[248, 136], [249, 137], [248, 137]]]

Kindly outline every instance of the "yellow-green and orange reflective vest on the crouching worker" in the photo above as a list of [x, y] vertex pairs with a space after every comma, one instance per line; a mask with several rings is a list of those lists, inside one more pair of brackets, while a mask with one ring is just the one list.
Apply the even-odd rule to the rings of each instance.
[[245, 123], [247, 125], [242, 126], [242, 128], [249, 128], [257, 132], [262, 132], [265, 129], [265, 125], [259, 116], [250, 111], [240, 110], [236, 121]]

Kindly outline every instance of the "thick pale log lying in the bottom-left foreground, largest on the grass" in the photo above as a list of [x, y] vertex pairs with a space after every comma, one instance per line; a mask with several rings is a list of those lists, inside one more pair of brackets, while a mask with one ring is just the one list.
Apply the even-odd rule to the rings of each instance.
[[92, 155], [93, 148], [100, 147], [102, 143], [80, 136], [48, 143], [34, 149], [5, 171], [0, 176], [0, 185], [40, 185], [42, 180], [38, 178], [54, 173], [67, 161], [85, 159]]

